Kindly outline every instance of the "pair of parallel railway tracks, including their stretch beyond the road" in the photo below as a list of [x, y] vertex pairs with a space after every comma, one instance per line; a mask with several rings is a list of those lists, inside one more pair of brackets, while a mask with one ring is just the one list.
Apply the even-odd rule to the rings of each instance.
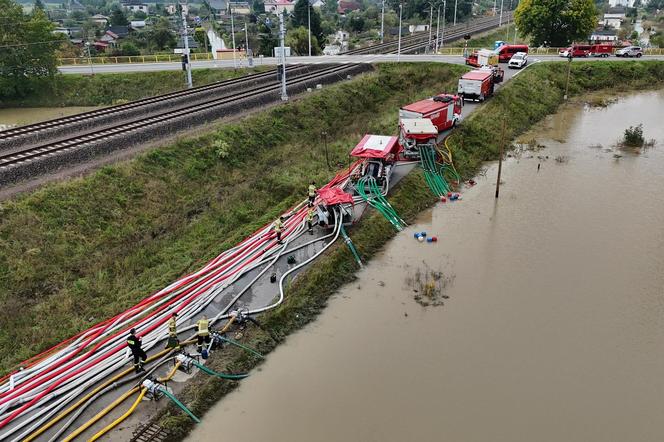
[[[498, 20], [484, 18], [450, 27], [445, 32], [445, 41], [492, 29]], [[504, 21], [510, 20], [508, 13]], [[403, 38], [401, 43], [402, 53], [419, 51], [428, 45], [428, 33]], [[391, 41], [346, 54], [390, 53], [396, 47], [397, 42]], [[289, 93], [368, 69], [366, 64], [290, 66], [287, 68]], [[271, 70], [0, 131], [0, 184], [28, 179], [129, 144], [153, 141], [180, 129], [273, 102], [278, 100], [279, 90], [276, 70]]]

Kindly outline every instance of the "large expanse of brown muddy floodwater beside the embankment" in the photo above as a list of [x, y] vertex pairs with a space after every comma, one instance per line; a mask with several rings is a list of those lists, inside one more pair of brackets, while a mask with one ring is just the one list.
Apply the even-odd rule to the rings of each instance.
[[[657, 144], [615, 147], [638, 123]], [[664, 93], [570, 106], [523, 139], [547, 147], [504, 163], [497, 202], [489, 165], [189, 440], [664, 440]], [[442, 272], [444, 305], [414, 300], [418, 270]]]

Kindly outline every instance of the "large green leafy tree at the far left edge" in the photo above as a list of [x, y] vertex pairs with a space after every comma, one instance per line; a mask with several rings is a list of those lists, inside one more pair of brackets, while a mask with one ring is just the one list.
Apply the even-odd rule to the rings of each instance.
[[42, 10], [24, 14], [13, 0], [0, 0], [0, 100], [28, 95], [57, 73], [57, 55], [64, 37]]

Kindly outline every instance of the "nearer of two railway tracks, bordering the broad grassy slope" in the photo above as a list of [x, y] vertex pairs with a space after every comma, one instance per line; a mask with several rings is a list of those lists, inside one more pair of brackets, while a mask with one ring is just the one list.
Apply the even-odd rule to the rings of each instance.
[[[371, 69], [366, 64], [333, 65], [314, 72], [297, 73], [288, 79], [290, 93], [297, 93], [313, 87], [318, 83], [331, 83], [348, 73], [356, 73]], [[212, 98], [205, 102], [181, 106], [174, 110], [155, 112], [149, 117], [136, 117], [129, 121], [109, 125], [85, 134], [76, 134], [58, 141], [42, 143], [35, 147], [0, 153], [0, 184], [8, 184], [34, 174], [43, 173], [48, 169], [66, 166], [72, 159], [87, 160], [100, 150], [110, 152], [125, 145], [127, 141], [149, 141], [157, 135], [172, 133], [193, 125], [193, 122], [207, 121], [225, 114], [263, 102], [272, 102], [278, 97], [280, 84], [261, 85], [247, 88], [241, 92], [228, 94], [220, 98]], [[161, 133], [155, 131], [161, 128]], [[164, 131], [166, 131], [164, 133]], [[93, 149], [97, 147], [97, 149]], [[84, 149], [85, 148], [85, 149]], [[81, 151], [83, 154], [81, 154]], [[77, 153], [78, 155], [72, 155]], [[65, 155], [69, 154], [69, 155]], [[48, 160], [48, 161], [39, 161]], [[47, 163], [44, 165], [43, 163]], [[29, 167], [31, 166], [31, 167]]]

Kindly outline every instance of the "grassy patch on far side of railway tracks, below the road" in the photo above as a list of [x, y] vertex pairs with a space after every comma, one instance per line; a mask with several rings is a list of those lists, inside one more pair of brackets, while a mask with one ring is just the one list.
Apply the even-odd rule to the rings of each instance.
[[[194, 86], [228, 80], [255, 72], [274, 69], [194, 69]], [[52, 83], [44, 83], [37, 92], [20, 99], [0, 96], [0, 107], [108, 106], [166, 94], [186, 87], [182, 71], [130, 72], [122, 74], [60, 74]]]

